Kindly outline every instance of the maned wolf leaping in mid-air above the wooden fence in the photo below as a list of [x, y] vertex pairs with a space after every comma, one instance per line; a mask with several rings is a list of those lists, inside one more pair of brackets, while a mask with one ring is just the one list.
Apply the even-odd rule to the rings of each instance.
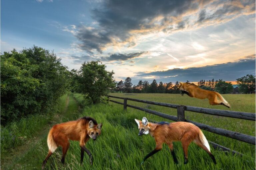
[[[182, 83], [180, 82], [181, 95], [187, 94], [190, 97], [195, 97], [198, 99], [208, 99], [210, 105], [224, 105], [230, 108], [229, 103], [218, 93], [215, 91], [204, 90], [199, 88], [197, 85], [192, 83]], [[220, 101], [218, 100], [220, 99]]]

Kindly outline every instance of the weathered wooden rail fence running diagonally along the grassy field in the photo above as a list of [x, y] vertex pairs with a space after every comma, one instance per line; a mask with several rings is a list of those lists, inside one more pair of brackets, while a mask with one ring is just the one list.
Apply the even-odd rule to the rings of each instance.
[[[109, 97], [111, 98], [117, 98], [117, 99], [123, 99], [124, 103], [117, 102], [114, 100], [110, 100]], [[177, 109], [177, 117], [176, 116], [171, 116], [167, 115], [161, 112], [153, 111], [150, 109], [145, 109], [137, 106], [132, 106], [128, 105], [127, 101], [135, 101], [135, 102], [141, 102], [141, 103], [146, 103], [146, 104], [152, 104], [152, 105], [158, 105], [158, 106], [164, 106], [164, 107], [169, 107], [169, 108], [175, 108]], [[243, 133], [238, 133], [234, 132], [231, 130], [226, 130], [222, 128], [215, 128], [209, 125], [193, 122], [190, 120], [185, 119], [185, 111], [190, 111], [190, 112], [197, 112], [197, 113], [203, 113], [203, 114], [208, 114], [208, 115], [215, 115], [215, 116], [224, 116], [224, 117], [230, 117], [230, 118], [237, 118], [237, 119], [244, 119], [244, 120], [250, 120], [250, 121], [255, 121], [255, 114], [254, 113], [246, 113], [246, 112], [234, 112], [234, 111], [227, 111], [227, 110], [217, 110], [217, 109], [207, 109], [207, 108], [199, 108], [199, 107], [193, 107], [193, 106], [183, 106], [183, 105], [174, 105], [174, 104], [169, 104], [169, 103], [161, 103], [161, 102], [153, 102], [153, 101], [146, 101], [146, 100], [139, 100], [139, 99], [132, 99], [132, 98], [123, 98], [123, 97], [117, 97], [117, 96], [108, 96], [108, 101], [114, 102], [117, 104], [121, 104], [124, 106], [124, 110], [127, 111], [127, 107], [138, 109], [153, 115], [160, 116], [162, 118], [166, 118], [172, 121], [183, 121], [183, 122], [190, 122], [199, 128], [216, 133], [222, 136], [230, 137], [232, 139], [240, 140], [246, 143], [254, 144], [255, 145], [255, 136], [250, 136], [247, 134]], [[209, 143], [215, 148], [215, 149], [221, 149], [223, 151], [231, 151], [233, 154], [240, 154], [243, 155], [237, 151], [231, 150], [229, 148], [226, 148], [224, 146], [221, 146], [217, 143], [213, 143], [209, 141]]]

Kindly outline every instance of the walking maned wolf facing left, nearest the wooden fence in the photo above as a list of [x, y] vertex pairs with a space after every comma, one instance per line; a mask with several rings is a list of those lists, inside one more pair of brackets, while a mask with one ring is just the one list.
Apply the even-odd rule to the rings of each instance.
[[135, 119], [135, 121], [140, 129], [139, 135], [150, 134], [155, 138], [156, 141], [155, 149], [144, 157], [141, 165], [147, 158], [160, 151], [162, 149], [163, 143], [166, 143], [169, 146], [173, 160], [176, 164], [178, 164], [178, 160], [173, 149], [173, 141], [181, 141], [185, 157], [184, 164], [188, 163], [188, 146], [192, 141], [204, 149], [210, 155], [214, 164], [216, 164], [216, 160], [210, 152], [210, 146], [207, 139], [205, 138], [201, 129], [194, 124], [188, 122], [151, 123], [148, 122], [147, 118], [145, 117], [143, 117], [142, 121], [137, 119]]

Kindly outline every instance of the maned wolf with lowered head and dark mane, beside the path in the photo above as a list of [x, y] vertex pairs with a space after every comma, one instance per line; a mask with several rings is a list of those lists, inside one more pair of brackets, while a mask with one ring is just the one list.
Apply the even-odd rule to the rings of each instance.
[[62, 147], [62, 157], [61, 162], [64, 164], [65, 155], [69, 148], [69, 140], [77, 140], [80, 142], [81, 147], [81, 161], [83, 163], [84, 151], [90, 157], [90, 163], [93, 164], [92, 154], [85, 147], [86, 142], [92, 138], [96, 140], [97, 136], [101, 133], [101, 124], [90, 117], [83, 117], [76, 121], [65, 122], [61, 124], [54, 125], [48, 134], [47, 145], [49, 148], [48, 155], [43, 161], [42, 169], [44, 168], [48, 158], [57, 149], [58, 146]]

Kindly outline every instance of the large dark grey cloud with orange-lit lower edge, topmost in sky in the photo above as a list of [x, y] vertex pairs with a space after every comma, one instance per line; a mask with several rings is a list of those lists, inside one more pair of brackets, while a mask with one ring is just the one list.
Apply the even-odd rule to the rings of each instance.
[[78, 46], [90, 54], [108, 46], [133, 47], [140, 35], [198, 29], [255, 13], [253, 0], [107, 0], [96, 6], [92, 18], [97, 24], [91, 29], [77, 26], [74, 34]]

